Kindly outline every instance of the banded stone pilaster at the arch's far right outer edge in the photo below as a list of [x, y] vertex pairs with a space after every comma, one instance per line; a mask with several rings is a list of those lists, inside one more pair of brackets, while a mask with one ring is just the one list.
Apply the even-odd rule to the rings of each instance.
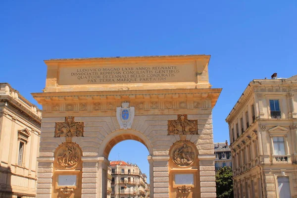
[[215, 155], [198, 155], [200, 169], [200, 197], [216, 198], [215, 188]]

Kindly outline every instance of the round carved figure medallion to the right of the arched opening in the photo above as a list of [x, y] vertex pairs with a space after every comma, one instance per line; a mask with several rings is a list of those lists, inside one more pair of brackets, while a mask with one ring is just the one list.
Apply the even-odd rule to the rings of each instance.
[[178, 166], [190, 166], [195, 159], [193, 148], [184, 143], [182, 146], [174, 149], [173, 162]]

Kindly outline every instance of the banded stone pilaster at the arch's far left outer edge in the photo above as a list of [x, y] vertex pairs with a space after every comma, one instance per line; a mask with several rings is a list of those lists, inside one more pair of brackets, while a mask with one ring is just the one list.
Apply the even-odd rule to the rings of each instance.
[[38, 157], [36, 198], [51, 198], [54, 157]]

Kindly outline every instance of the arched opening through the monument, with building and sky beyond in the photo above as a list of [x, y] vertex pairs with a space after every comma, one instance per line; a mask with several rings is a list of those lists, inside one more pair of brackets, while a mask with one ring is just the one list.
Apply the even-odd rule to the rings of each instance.
[[108, 159], [106, 173], [101, 178], [102, 184], [107, 181], [106, 188], [102, 185], [107, 192], [102, 191], [102, 197], [150, 197], [153, 169], [147, 160], [152, 147], [146, 136], [135, 130], [114, 131], [101, 143], [99, 154]]

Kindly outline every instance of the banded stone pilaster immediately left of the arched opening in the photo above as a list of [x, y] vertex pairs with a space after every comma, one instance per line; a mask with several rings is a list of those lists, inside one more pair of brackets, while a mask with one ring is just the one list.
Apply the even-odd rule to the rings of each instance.
[[101, 198], [100, 196], [97, 196], [99, 185], [101, 184], [101, 181], [98, 179], [99, 158], [82, 156], [82, 161], [82, 198]]

